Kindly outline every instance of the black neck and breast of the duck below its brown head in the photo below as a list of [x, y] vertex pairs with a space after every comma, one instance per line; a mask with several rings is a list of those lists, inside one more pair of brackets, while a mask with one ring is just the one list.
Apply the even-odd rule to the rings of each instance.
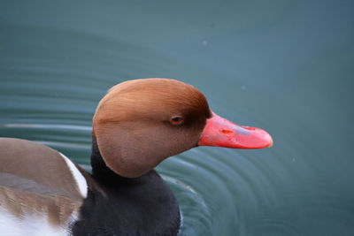
[[[94, 145], [95, 146], [95, 145]], [[180, 210], [172, 191], [156, 171], [127, 179], [105, 166], [93, 147], [93, 179], [73, 235], [177, 235]]]

